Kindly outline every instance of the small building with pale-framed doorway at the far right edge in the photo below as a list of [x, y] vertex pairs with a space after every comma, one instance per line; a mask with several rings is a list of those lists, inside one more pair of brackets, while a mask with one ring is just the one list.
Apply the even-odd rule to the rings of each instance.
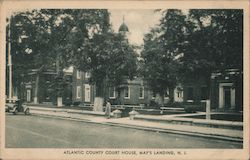
[[219, 111], [243, 111], [243, 72], [238, 69], [211, 75], [211, 106]]

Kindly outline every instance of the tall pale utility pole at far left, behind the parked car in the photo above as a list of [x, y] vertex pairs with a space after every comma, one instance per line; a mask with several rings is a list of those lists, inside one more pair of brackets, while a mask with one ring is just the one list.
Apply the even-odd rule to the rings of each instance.
[[9, 66], [9, 102], [12, 102], [12, 61], [11, 61], [11, 37], [10, 37], [10, 22], [9, 20], [9, 33], [8, 33], [8, 66]]

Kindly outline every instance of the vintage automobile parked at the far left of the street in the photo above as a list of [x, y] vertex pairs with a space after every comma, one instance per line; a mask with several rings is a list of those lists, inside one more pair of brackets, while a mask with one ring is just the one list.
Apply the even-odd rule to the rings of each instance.
[[16, 100], [13, 103], [6, 103], [5, 104], [5, 112], [17, 114], [18, 112], [23, 112], [25, 115], [30, 114], [30, 109], [26, 105], [22, 103], [21, 100]]

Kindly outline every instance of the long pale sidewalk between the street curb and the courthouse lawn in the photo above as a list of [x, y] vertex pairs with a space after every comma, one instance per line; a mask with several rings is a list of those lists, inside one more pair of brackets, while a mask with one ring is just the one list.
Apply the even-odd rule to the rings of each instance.
[[[111, 118], [106, 119], [104, 117], [104, 112], [93, 112], [93, 111], [84, 111], [80, 109], [67, 109], [67, 108], [49, 108], [41, 106], [29, 106], [32, 115], [40, 116], [49, 116], [64, 118], [70, 120], [83, 121], [88, 123], [97, 123], [103, 125], [112, 125], [119, 127], [127, 127], [155, 132], [164, 132], [164, 133], [174, 133], [174, 134], [183, 134], [190, 136], [199, 136], [205, 138], [215, 138], [221, 140], [230, 140], [230, 141], [243, 141], [243, 131], [235, 129], [224, 129], [224, 128], [211, 128], [198, 125], [187, 125], [182, 123], [164, 123], [164, 120], [176, 119], [176, 121], [194, 121], [195, 123], [205, 123], [209, 124], [207, 120], [202, 120], [199, 122], [197, 119], [178, 118], [173, 116], [146, 116], [138, 115], [134, 120], [125, 118]], [[140, 118], [139, 118], [140, 117]], [[150, 118], [155, 118], [154, 121]], [[213, 122], [215, 123], [215, 122]], [[220, 123], [220, 122], [217, 122]], [[224, 123], [224, 121], [222, 122]], [[230, 122], [232, 123], [232, 122]]]

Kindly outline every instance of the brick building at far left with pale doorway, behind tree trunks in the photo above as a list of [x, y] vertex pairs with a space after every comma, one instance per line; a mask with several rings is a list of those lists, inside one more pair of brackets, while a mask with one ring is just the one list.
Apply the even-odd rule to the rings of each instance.
[[[61, 79], [61, 88], [58, 88], [57, 73], [53, 69], [47, 69], [38, 73], [38, 69], [31, 69], [23, 77], [21, 82], [21, 99], [27, 103], [56, 104], [58, 91], [61, 91], [63, 103], [72, 101], [72, 74], [64, 72]], [[39, 74], [39, 80], [37, 79]], [[36, 84], [38, 83], [38, 85]], [[36, 85], [38, 88], [36, 88]], [[36, 95], [37, 89], [37, 95]]]

